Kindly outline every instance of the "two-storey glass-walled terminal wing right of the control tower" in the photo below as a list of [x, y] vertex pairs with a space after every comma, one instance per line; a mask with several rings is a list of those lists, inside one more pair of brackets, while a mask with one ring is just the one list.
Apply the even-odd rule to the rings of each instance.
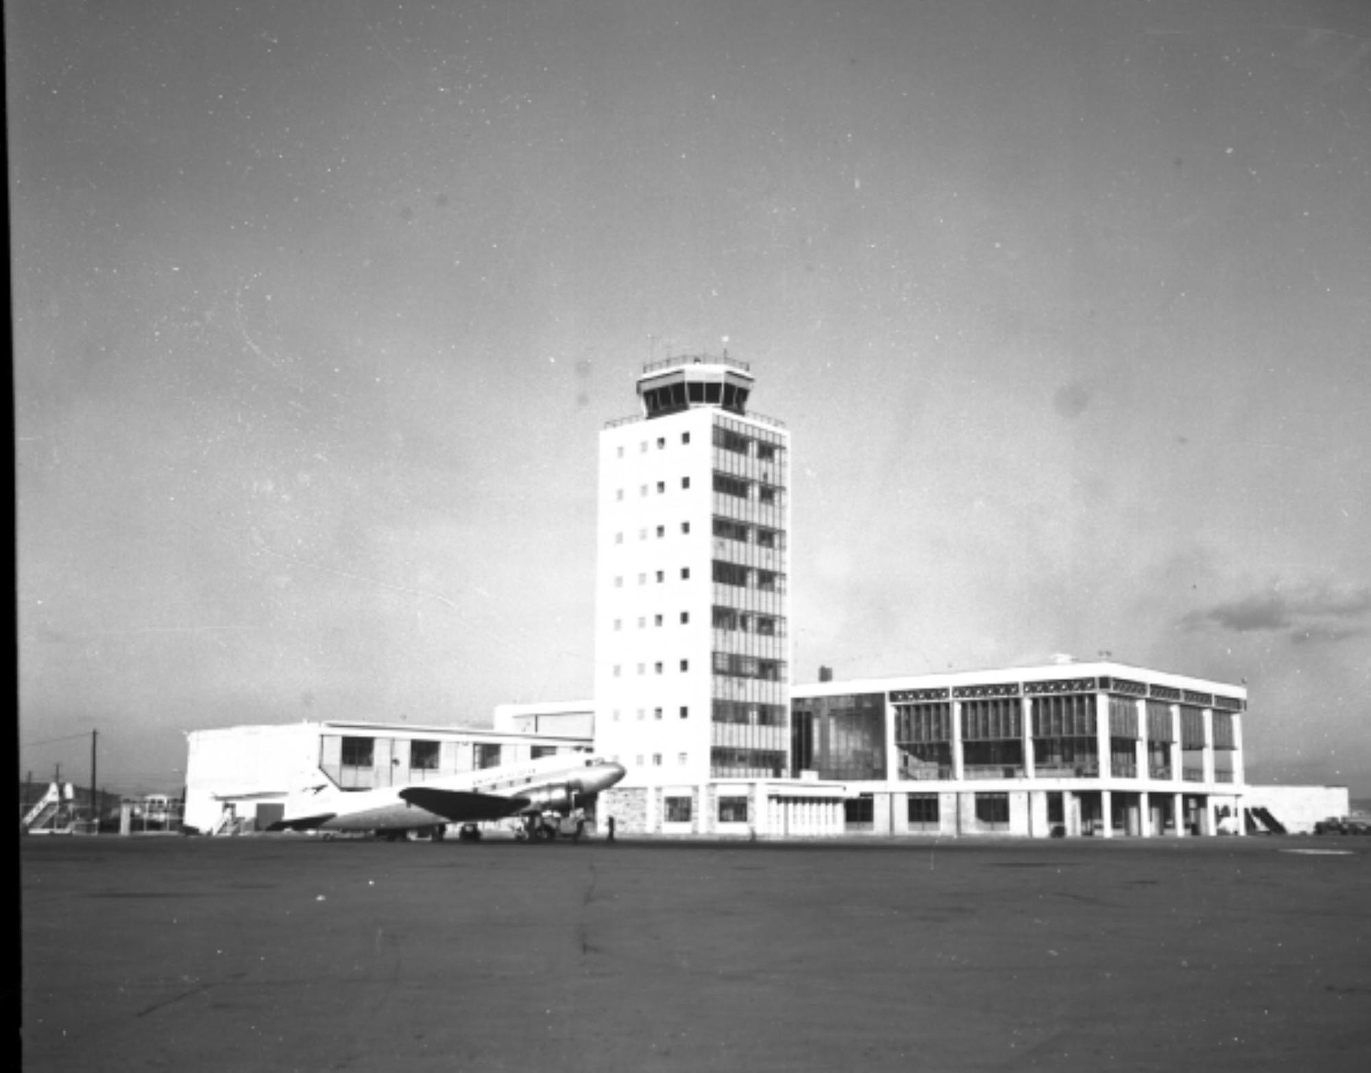
[[1246, 689], [1113, 661], [791, 689], [791, 773], [847, 833], [1241, 833]]

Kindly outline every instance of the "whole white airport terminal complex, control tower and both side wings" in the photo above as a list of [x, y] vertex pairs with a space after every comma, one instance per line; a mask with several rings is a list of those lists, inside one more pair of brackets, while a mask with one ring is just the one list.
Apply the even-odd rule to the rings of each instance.
[[[1270, 811], [1245, 807], [1243, 686], [1068, 657], [792, 685], [790, 432], [749, 412], [753, 387], [727, 351], [653, 362], [638, 413], [602, 429], [594, 701], [500, 705], [489, 730], [197, 731], [186, 822], [265, 827], [302, 766], [361, 789], [594, 749], [627, 768], [596, 804], [624, 834], [1264, 829]], [[1297, 811], [1294, 830], [1346, 797], [1263, 800]]]

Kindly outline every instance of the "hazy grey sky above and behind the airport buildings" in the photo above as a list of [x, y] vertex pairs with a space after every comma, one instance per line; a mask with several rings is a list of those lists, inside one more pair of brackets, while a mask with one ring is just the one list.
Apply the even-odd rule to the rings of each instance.
[[725, 346], [792, 678], [1245, 683], [1371, 797], [1371, 5], [5, 5], [19, 764], [590, 698], [598, 432]]

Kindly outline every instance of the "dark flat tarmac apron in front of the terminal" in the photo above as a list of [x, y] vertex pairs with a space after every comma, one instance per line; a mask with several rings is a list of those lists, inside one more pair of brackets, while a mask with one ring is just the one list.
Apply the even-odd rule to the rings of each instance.
[[1371, 840], [52, 837], [23, 1068], [1356, 1070]]

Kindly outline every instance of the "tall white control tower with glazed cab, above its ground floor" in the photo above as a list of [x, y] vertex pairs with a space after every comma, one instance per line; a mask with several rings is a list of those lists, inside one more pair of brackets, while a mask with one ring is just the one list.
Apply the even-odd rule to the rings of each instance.
[[780, 778], [790, 752], [790, 434], [736, 359], [647, 365], [600, 432], [595, 749], [622, 786]]

